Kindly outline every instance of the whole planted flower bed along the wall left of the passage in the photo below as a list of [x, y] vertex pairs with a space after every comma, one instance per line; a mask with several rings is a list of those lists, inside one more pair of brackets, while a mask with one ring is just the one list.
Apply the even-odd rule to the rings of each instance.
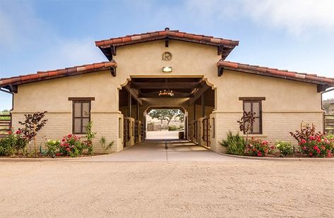
[[[85, 140], [78, 135], [68, 134], [61, 140], [47, 140], [45, 146], [40, 146], [38, 151], [36, 146], [37, 131], [42, 129], [47, 122], [47, 120], [42, 120], [44, 113], [25, 114], [25, 121], [19, 122], [24, 125], [24, 128], [19, 128], [16, 133], [8, 131], [8, 135], [0, 139], [0, 157], [85, 157], [102, 155], [94, 153], [93, 150], [93, 138], [95, 138], [96, 133], [92, 131], [92, 122], [89, 122], [85, 127], [87, 132], [83, 137]], [[103, 152], [107, 153], [113, 142], [107, 146], [105, 146], [105, 143], [104, 141], [102, 148]]]

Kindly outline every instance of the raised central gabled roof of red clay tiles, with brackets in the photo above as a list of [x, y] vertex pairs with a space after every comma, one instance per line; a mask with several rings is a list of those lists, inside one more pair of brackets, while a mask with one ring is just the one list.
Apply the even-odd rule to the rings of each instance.
[[165, 39], [166, 37], [172, 40], [209, 44], [217, 47], [221, 46], [223, 48], [222, 59], [225, 59], [229, 55], [229, 53], [232, 52], [234, 47], [239, 45], [239, 41], [235, 40], [225, 40], [213, 36], [196, 35], [187, 32], [179, 32], [179, 30], [169, 30], [169, 28], [156, 32], [145, 32], [136, 35], [126, 35], [125, 37], [111, 38], [109, 40], [95, 41], [95, 45], [99, 47], [101, 51], [110, 60], [112, 59], [112, 55], [107, 54], [109, 50], [105, 50], [110, 46], [119, 47], [126, 44], [136, 44], [141, 42], [149, 42], [153, 40], [162, 40]]

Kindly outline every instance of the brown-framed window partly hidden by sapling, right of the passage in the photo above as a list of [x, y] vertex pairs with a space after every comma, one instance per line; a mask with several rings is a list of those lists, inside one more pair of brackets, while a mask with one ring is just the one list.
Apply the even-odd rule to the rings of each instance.
[[265, 97], [239, 97], [239, 100], [243, 101], [244, 111], [255, 113], [250, 134], [262, 134], [262, 100], [265, 99]]

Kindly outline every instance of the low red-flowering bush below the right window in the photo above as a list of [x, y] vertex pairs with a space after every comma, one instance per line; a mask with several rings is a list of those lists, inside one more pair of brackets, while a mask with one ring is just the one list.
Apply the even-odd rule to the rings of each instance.
[[264, 157], [274, 148], [275, 147], [270, 145], [270, 142], [267, 140], [259, 140], [258, 138], [252, 137], [251, 140], [248, 140], [246, 143], [245, 155]]

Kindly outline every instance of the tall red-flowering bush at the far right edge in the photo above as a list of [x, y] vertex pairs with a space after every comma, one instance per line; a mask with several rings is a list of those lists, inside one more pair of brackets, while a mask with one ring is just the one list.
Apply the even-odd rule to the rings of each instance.
[[316, 126], [307, 125], [290, 134], [298, 141], [299, 150], [308, 157], [333, 157], [334, 139], [316, 132]]

